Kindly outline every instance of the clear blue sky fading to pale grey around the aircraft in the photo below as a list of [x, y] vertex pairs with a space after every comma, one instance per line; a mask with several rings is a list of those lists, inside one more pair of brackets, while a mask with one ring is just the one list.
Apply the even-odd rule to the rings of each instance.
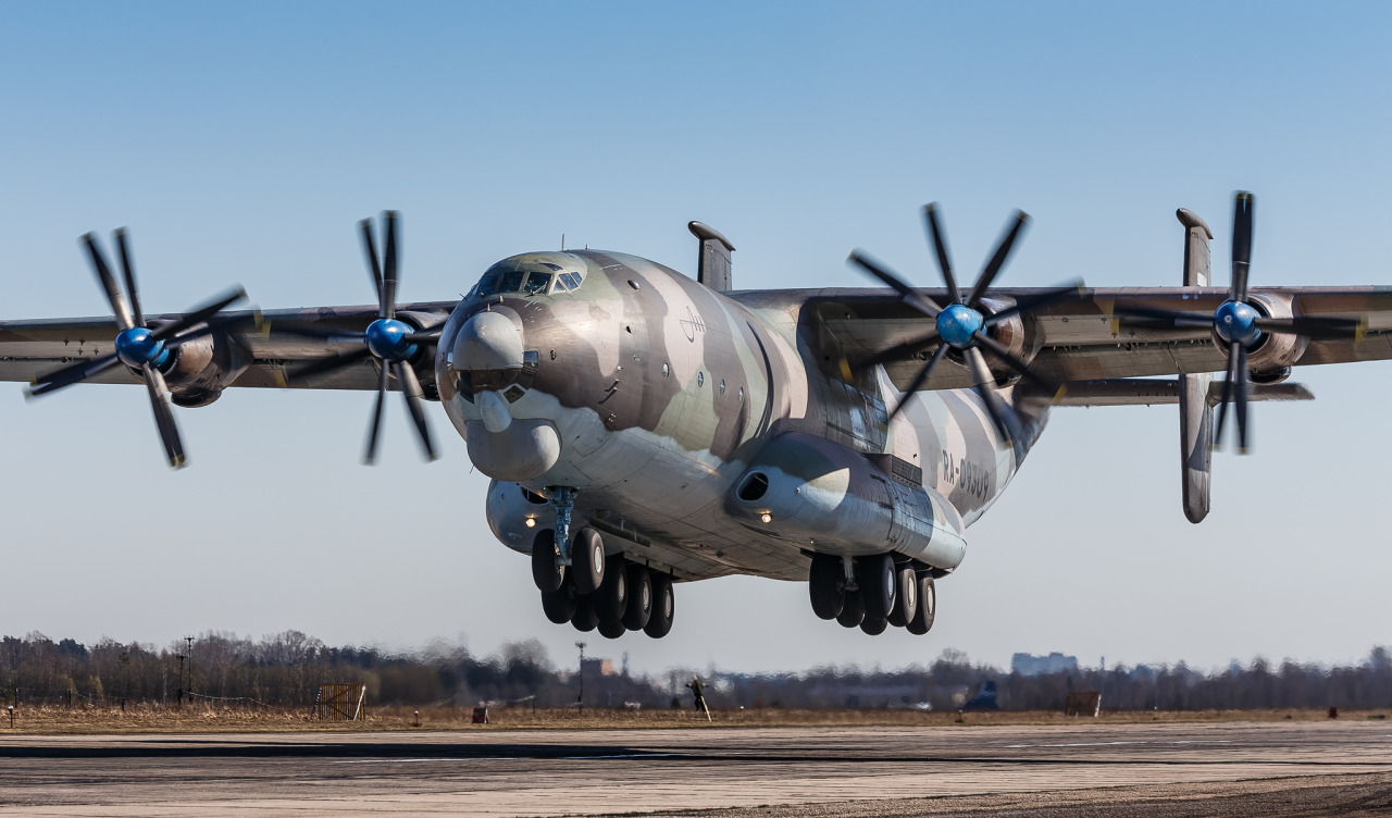
[[[0, 317], [102, 314], [78, 255], [132, 230], [148, 310], [241, 282], [263, 307], [372, 300], [354, 235], [405, 217], [405, 299], [554, 248], [690, 268], [690, 218], [741, 287], [859, 285], [871, 249], [933, 284], [916, 209], [959, 267], [1034, 216], [1002, 284], [1178, 284], [1178, 206], [1226, 259], [1258, 196], [1257, 284], [1392, 284], [1379, 4], [0, 6]], [[1222, 267], [1222, 264], [1218, 264]], [[1225, 282], [1226, 274], [1219, 273]], [[1318, 402], [1257, 406], [1218, 458], [1214, 513], [1179, 509], [1172, 409], [1059, 410], [940, 584], [930, 637], [813, 618], [802, 584], [683, 586], [639, 669], [1357, 659], [1385, 607], [1389, 364], [1307, 370]], [[537, 637], [567, 659], [526, 559], [482, 519], [486, 479], [432, 413], [419, 462], [366, 394], [227, 394], [180, 412], [163, 465], [142, 390], [0, 399], [0, 632], [164, 641], [296, 627], [330, 643]], [[0, 392], [3, 396], [3, 392]], [[593, 643], [594, 640], [590, 639]], [[603, 641], [603, 640], [601, 640]]]

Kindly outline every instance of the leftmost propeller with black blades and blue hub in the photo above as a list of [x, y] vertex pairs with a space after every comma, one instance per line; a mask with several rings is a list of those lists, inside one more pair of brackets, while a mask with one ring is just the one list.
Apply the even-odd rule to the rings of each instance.
[[[92, 271], [106, 292], [107, 303], [121, 328], [116, 335], [116, 352], [78, 360], [74, 364], [50, 371], [33, 378], [29, 395], [45, 395], [56, 392], [64, 387], [79, 384], [103, 371], [125, 364], [129, 370], [145, 381], [150, 394], [150, 406], [155, 409], [155, 426], [159, 428], [160, 441], [164, 444], [164, 455], [170, 466], [178, 469], [184, 465], [184, 442], [174, 423], [174, 412], [170, 408], [170, 391], [164, 383], [164, 374], [173, 369], [178, 359], [178, 348], [189, 341], [209, 335], [217, 330], [230, 328], [235, 323], [256, 321], [256, 313], [241, 313], [219, 316], [227, 306], [246, 298], [242, 288], [214, 299], [213, 302], [182, 314], [171, 321], [159, 323], [150, 327], [145, 321], [145, 310], [141, 309], [141, 296], [135, 287], [135, 267], [131, 264], [129, 246], [125, 239], [125, 230], [116, 231], [116, 246], [121, 255], [121, 273], [125, 278], [125, 292], [111, 267], [106, 263], [106, 255], [97, 246], [96, 234], [86, 234], [81, 239], [92, 260]], [[129, 296], [129, 300], [127, 300]]]

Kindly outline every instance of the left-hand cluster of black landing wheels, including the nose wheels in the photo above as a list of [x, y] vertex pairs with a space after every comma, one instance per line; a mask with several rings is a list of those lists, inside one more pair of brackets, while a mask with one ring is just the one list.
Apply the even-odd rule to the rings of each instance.
[[557, 625], [599, 630], [618, 639], [642, 630], [661, 639], [672, 629], [677, 611], [672, 577], [644, 565], [604, 555], [594, 529], [580, 529], [571, 543], [571, 565], [562, 565], [555, 531], [546, 529], [532, 541], [532, 579], [541, 590], [541, 609]]

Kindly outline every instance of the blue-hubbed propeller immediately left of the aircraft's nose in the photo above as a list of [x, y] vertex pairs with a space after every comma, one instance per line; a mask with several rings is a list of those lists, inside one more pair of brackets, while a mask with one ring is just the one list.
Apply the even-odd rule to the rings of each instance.
[[277, 323], [277, 332], [291, 335], [308, 335], [313, 338], [331, 338], [356, 342], [361, 346], [352, 352], [333, 355], [309, 363], [298, 370], [287, 373], [288, 380], [303, 380], [315, 376], [324, 376], [345, 366], [354, 366], [372, 359], [377, 366], [377, 403], [372, 413], [372, 426], [367, 431], [367, 448], [363, 454], [365, 463], [373, 463], [377, 458], [377, 433], [381, 428], [381, 413], [387, 403], [388, 377], [395, 376], [397, 385], [406, 399], [406, 410], [416, 427], [420, 447], [430, 460], [436, 459], [434, 445], [430, 442], [430, 427], [426, 426], [423, 406], [423, 392], [416, 370], [411, 366], [422, 345], [434, 344], [440, 338], [440, 330], [418, 331], [411, 324], [397, 319], [397, 221], [395, 210], [383, 213], [386, 245], [381, 257], [377, 257], [377, 242], [372, 235], [372, 220], [363, 218], [358, 223], [362, 230], [363, 252], [367, 255], [367, 268], [372, 281], [377, 288], [377, 319], [367, 324], [362, 332], [323, 330], [313, 326], [298, 326], [295, 323]]

